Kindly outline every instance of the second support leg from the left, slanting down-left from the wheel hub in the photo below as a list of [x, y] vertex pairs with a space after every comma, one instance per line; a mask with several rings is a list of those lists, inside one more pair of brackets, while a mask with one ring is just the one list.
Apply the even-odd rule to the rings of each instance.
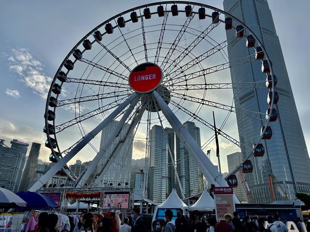
[[[87, 170], [84, 172], [84, 174], [80, 177], [78, 180], [78, 183], [76, 184], [76, 187], [83, 187], [88, 178], [91, 176], [93, 170], [97, 166], [99, 160], [107, 153], [107, 150], [109, 149], [110, 145], [113, 143], [114, 139], [120, 134], [127, 118], [129, 117], [132, 110], [135, 108], [137, 103], [140, 100], [140, 94], [137, 95], [135, 100], [130, 104], [130, 106], [126, 109], [124, 115], [122, 116], [121, 120], [118, 122], [118, 124], [115, 126], [113, 132], [109, 136], [109, 138], [105, 141], [103, 146], [100, 148], [97, 155], [93, 158], [93, 161], [91, 165], [87, 168]], [[107, 161], [109, 162], [109, 160]]]

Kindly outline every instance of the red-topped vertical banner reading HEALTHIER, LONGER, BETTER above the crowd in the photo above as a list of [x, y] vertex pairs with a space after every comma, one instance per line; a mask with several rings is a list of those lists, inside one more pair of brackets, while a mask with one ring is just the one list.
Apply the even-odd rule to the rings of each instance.
[[224, 220], [225, 214], [233, 215], [235, 207], [232, 187], [214, 187], [214, 201], [217, 221]]

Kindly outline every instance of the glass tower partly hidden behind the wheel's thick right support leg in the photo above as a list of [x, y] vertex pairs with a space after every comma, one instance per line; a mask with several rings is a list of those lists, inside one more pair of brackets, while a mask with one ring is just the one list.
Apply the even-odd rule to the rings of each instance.
[[[201, 146], [200, 128], [193, 122], [185, 122], [184, 127], [193, 139]], [[190, 197], [203, 190], [202, 172], [196, 162], [189, 155], [184, 144], [176, 136], [176, 170], [178, 172], [183, 192], [186, 197]], [[179, 186], [177, 186], [178, 195], [180, 195]]]

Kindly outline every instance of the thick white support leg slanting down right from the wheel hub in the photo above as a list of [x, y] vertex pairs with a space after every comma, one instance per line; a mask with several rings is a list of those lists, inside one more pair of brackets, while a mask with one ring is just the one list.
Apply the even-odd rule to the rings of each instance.
[[[184, 143], [186, 149], [195, 160], [197, 166], [200, 168], [200, 170], [202, 170], [202, 174], [205, 176], [205, 178], [215, 186], [228, 186], [223, 176], [218, 172], [212, 162], [207, 158], [207, 156], [204, 154], [197, 142], [195, 142], [192, 136], [187, 132], [186, 128], [174, 115], [167, 103], [156, 91], [153, 91], [153, 94], [163, 114], [167, 118], [168, 122], [171, 124], [179, 139], [181, 139], [181, 141]], [[235, 198], [234, 200], [237, 199]], [[239, 201], [237, 200], [237, 202]]]

